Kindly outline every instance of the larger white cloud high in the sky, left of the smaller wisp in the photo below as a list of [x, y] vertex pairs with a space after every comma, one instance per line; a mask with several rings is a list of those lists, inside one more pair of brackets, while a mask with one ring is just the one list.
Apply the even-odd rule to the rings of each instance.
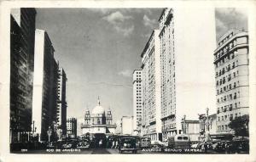
[[119, 11], [108, 14], [102, 18], [107, 20], [109, 24], [113, 25], [113, 29], [124, 36], [130, 36], [134, 31], [134, 25], [126, 25], [125, 21], [132, 20], [133, 18], [129, 15], [122, 14]]

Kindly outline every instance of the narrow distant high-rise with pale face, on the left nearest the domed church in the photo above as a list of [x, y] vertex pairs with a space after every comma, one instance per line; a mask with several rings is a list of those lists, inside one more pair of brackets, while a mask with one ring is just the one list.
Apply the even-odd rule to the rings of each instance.
[[60, 126], [62, 135], [67, 133], [67, 100], [66, 100], [67, 75], [63, 68], [59, 69], [58, 78], [58, 104], [57, 104], [57, 124]]

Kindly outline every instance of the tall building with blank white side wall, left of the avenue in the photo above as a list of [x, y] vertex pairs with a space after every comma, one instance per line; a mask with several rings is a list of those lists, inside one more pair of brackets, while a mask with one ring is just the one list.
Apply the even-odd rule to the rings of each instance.
[[32, 120], [40, 140], [47, 139], [47, 131], [57, 123], [58, 64], [55, 49], [46, 31], [36, 30], [35, 67], [33, 82]]

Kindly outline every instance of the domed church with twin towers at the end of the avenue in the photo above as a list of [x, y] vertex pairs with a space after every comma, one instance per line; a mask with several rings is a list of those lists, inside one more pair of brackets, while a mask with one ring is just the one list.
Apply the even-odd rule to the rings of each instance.
[[91, 113], [89, 109], [85, 110], [84, 123], [81, 125], [82, 134], [114, 133], [116, 125], [112, 122], [111, 110], [108, 109], [106, 113], [98, 98], [98, 105], [92, 109]]

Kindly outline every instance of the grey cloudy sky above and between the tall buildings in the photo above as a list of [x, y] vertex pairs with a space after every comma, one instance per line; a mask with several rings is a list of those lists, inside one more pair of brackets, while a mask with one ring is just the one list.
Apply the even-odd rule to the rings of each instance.
[[[112, 109], [113, 121], [132, 115], [132, 71], [141, 66], [140, 54], [159, 27], [161, 11], [37, 8], [36, 27], [47, 31], [55, 59], [67, 73], [68, 117], [83, 120], [84, 110], [93, 109], [98, 96], [105, 109]], [[217, 39], [231, 28], [247, 30], [245, 9], [216, 8], [215, 18]]]

